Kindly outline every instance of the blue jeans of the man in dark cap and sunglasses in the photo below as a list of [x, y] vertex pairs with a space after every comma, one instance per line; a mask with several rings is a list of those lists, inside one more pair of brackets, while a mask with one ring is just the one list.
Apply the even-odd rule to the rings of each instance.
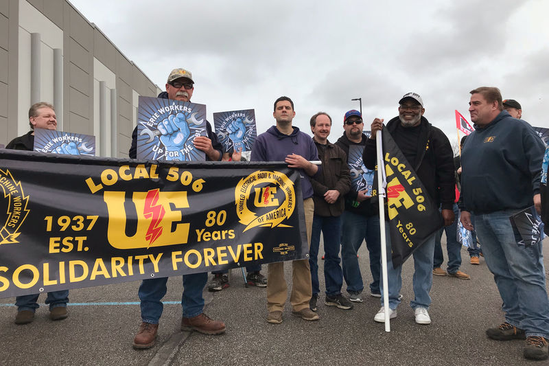
[[363, 216], [343, 211], [341, 216], [341, 259], [343, 277], [347, 282], [348, 293], [362, 293], [364, 284], [360, 274], [360, 266], [356, 253], [366, 240], [366, 248], [370, 253], [370, 271], [373, 282], [370, 284], [372, 293], [379, 293], [379, 272], [381, 271], [381, 236], [379, 233], [379, 216]]

